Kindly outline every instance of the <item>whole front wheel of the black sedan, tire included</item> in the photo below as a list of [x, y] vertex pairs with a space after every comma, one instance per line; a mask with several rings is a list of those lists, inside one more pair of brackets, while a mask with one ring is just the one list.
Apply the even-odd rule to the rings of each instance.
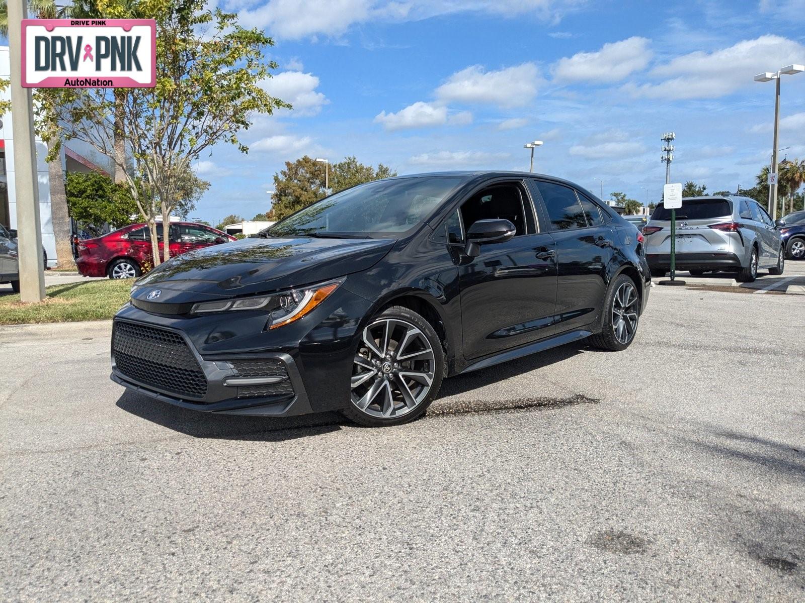
[[353, 362], [343, 414], [360, 425], [401, 425], [422, 416], [442, 384], [444, 351], [422, 316], [393, 306], [369, 322]]

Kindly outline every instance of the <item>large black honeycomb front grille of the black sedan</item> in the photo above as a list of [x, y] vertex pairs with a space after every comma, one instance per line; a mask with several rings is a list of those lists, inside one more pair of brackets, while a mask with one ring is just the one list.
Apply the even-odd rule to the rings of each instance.
[[178, 333], [115, 321], [112, 350], [118, 371], [142, 384], [182, 397], [201, 398], [207, 393], [204, 372]]

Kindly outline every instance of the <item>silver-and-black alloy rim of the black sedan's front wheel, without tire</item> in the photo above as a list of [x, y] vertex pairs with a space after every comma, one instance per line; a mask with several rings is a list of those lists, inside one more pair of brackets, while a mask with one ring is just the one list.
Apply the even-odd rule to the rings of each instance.
[[361, 336], [353, 363], [352, 403], [369, 416], [407, 415], [431, 391], [435, 367], [431, 343], [417, 326], [380, 318]]

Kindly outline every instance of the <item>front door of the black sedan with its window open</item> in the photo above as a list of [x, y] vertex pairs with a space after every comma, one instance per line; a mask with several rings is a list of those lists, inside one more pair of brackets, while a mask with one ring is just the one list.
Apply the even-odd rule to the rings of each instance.
[[[510, 220], [517, 234], [463, 254], [464, 232], [478, 219]], [[464, 357], [476, 359], [551, 334], [556, 297], [553, 237], [540, 232], [522, 180], [496, 182], [469, 195], [453, 224], [458, 264]], [[456, 228], [456, 227], [454, 227]]]

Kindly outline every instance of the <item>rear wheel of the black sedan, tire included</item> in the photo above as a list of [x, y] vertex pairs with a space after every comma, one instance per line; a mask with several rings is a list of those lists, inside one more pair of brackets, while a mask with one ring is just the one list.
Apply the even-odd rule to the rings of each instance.
[[634, 281], [625, 274], [619, 275], [606, 295], [604, 328], [589, 338], [594, 347], [621, 351], [630, 346], [640, 320], [640, 295]]

